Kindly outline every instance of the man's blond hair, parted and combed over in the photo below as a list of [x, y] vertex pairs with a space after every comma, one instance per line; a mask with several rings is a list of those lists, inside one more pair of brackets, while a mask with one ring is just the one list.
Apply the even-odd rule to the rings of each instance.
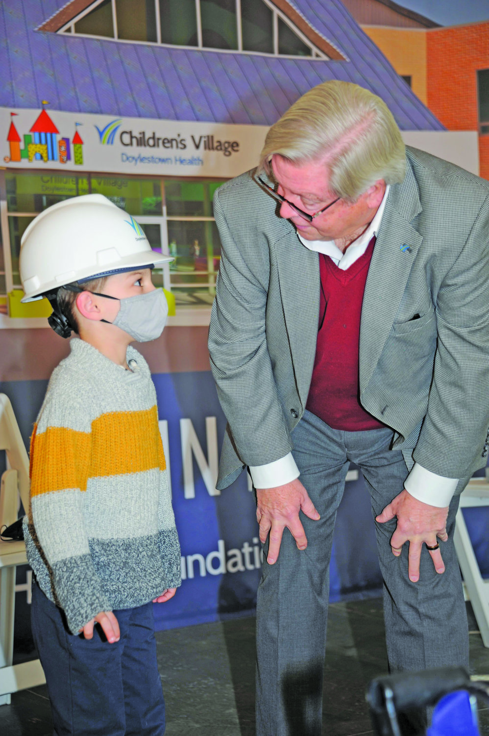
[[404, 179], [404, 142], [380, 97], [351, 82], [324, 82], [301, 96], [268, 131], [258, 171], [271, 157], [302, 165], [324, 161], [329, 190], [354, 202], [376, 181]]

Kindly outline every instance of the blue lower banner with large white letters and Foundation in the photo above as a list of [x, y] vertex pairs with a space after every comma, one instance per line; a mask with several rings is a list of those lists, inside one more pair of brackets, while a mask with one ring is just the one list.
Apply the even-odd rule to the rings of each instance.
[[[182, 550], [182, 586], [171, 601], [155, 604], [155, 625], [168, 629], [251, 613], [261, 567], [256, 506], [246, 473], [229, 488], [215, 489], [226, 420], [213, 377], [198, 370], [156, 373], [153, 380]], [[26, 446], [46, 386], [47, 379], [1, 384]], [[4, 469], [4, 453], [0, 453], [0, 474]], [[370, 494], [355, 467], [346, 481], [332, 548], [331, 601], [380, 595], [382, 590]], [[465, 516], [482, 574], [489, 576], [488, 515], [482, 511], [465, 509]], [[18, 567], [16, 657], [32, 646], [31, 580], [29, 568]]]

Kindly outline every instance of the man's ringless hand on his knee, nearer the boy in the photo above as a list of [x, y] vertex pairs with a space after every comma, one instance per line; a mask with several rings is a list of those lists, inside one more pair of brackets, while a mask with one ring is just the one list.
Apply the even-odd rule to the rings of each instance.
[[296, 540], [299, 550], [307, 547], [307, 538], [299, 519], [299, 511], [310, 519], [317, 521], [320, 518], [299, 478], [286, 483], [285, 486], [257, 488], [257, 522], [260, 524], [260, 542], [265, 542], [270, 532], [268, 565], [273, 565], [279, 556], [280, 542], [282, 542], [285, 527]]

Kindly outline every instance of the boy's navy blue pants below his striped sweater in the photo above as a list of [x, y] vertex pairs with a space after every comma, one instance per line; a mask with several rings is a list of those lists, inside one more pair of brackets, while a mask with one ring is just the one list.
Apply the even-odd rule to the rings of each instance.
[[163, 736], [153, 604], [114, 611], [121, 639], [71, 634], [63, 612], [35, 583], [32, 633], [46, 675], [55, 736]]

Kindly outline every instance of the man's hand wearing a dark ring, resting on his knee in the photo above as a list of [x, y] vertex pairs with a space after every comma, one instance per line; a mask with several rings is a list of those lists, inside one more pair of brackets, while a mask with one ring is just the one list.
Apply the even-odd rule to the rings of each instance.
[[[397, 517], [396, 531], [390, 537], [390, 547], [393, 554], [399, 557], [404, 542], [409, 542], [409, 578], [413, 583], [419, 580], [419, 560], [424, 543], [434, 547], [438, 539], [446, 542], [449, 535], [446, 533], [446, 517], [448, 506], [440, 509], [438, 506], [429, 506], [414, 498], [406, 489], [401, 491], [388, 506], [375, 518], [379, 523], [390, 521]], [[445, 572], [445, 565], [441, 559], [440, 550], [430, 550], [433, 565], [437, 573]]]

